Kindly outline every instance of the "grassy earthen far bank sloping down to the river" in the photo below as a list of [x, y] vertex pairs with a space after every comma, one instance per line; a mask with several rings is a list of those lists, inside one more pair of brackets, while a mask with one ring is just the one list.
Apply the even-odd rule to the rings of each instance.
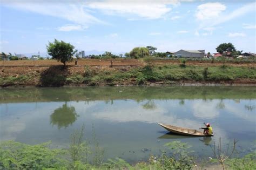
[[9, 65], [0, 70], [1, 87], [256, 84], [254, 64]]

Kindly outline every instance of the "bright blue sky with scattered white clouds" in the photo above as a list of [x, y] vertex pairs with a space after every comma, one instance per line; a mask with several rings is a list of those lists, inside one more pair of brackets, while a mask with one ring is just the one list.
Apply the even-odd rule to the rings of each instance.
[[7, 53], [45, 53], [54, 39], [85, 55], [148, 45], [214, 53], [221, 43], [256, 52], [251, 0], [2, 0], [0, 12], [0, 51]]

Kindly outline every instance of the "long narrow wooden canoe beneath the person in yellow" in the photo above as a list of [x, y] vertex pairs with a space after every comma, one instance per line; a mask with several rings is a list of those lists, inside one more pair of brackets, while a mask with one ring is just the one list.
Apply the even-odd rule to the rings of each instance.
[[201, 131], [198, 130], [191, 130], [190, 128], [184, 128], [184, 127], [178, 127], [178, 126], [172, 126], [172, 125], [166, 125], [166, 124], [160, 124], [158, 125], [164, 127], [167, 131], [170, 131], [175, 134], [181, 134], [186, 136], [192, 136], [192, 137], [211, 137], [213, 134], [204, 134]]

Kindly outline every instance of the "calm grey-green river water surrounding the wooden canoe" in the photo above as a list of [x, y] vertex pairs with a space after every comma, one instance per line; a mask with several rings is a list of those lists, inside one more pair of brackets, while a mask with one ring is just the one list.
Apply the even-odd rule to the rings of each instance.
[[[187, 142], [199, 157], [210, 144], [238, 140], [241, 155], [255, 145], [256, 87], [26, 87], [0, 90], [0, 140], [51, 141], [69, 147], [70, 134], [85, 125], [104, 158], [128, 162], [158, 155], [164, 144]], [[210, 123], [214, 137], [171, 135], [157, 123], [198, 129]], [[254, 146], [255, 147], [255, 146]]]

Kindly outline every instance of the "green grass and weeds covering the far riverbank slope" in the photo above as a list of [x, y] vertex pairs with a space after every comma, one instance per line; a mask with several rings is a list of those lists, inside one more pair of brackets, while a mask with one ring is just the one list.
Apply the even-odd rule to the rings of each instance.
[[[164, 65], [136, 67], [130, 69], [103, 69], [85, 66], [81, 73], [70, 73], [68, 69], [60, 70], [51, 67], [43, 73], [21, 74], [16, 77], [7, 76], [0, 78], [0, 86], [12, 85], [175, 85], [179, 82], [188, 83], [231, 83], [247, 80], [251, 84], [256, 81], [255, 67], [235, 66], [186, 66]], [[241, 81], [242, 82], [242, 81]]]

